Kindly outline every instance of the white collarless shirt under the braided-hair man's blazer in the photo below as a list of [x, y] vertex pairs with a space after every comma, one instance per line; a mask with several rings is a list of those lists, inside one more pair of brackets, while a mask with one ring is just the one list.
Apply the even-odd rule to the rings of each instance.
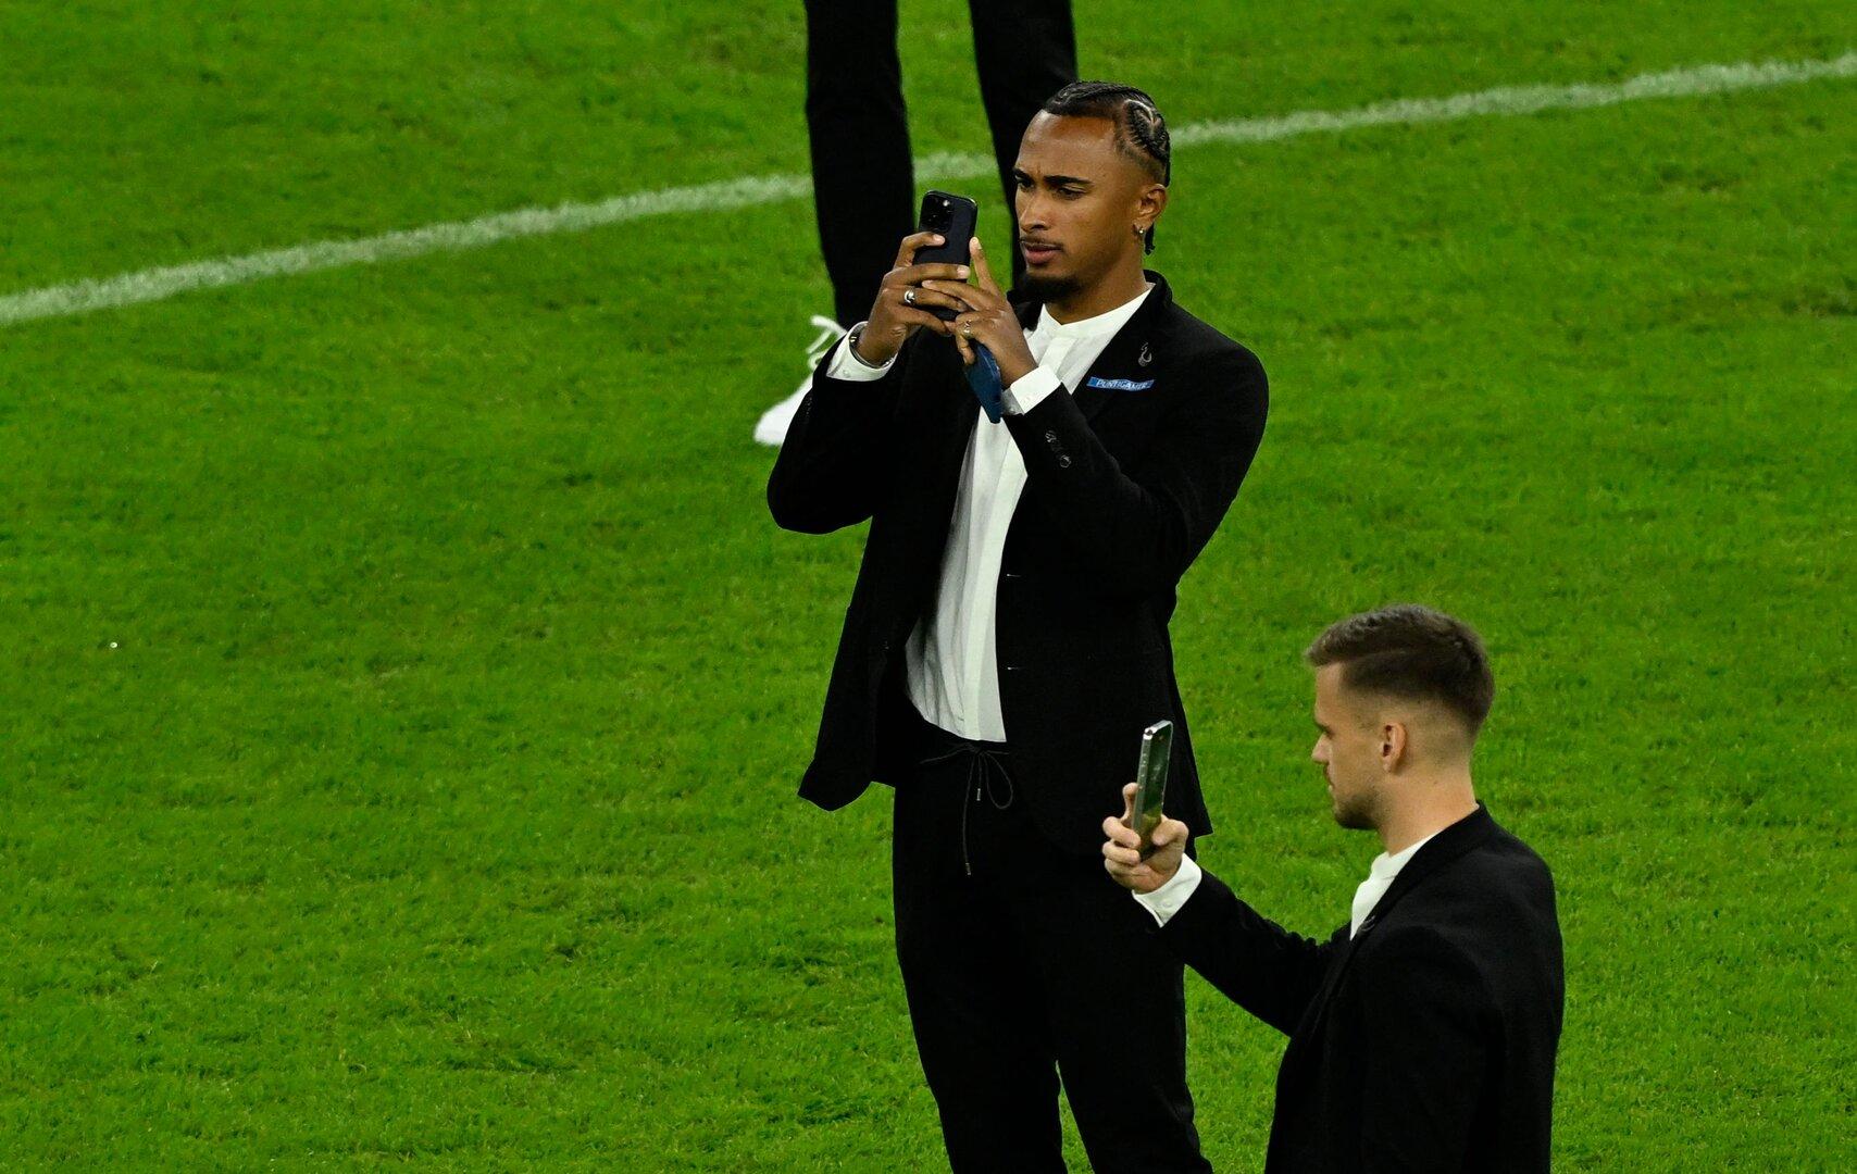
[[[1079, 321], [1058, 321], [1049, 308], [1042, 308], [1025, 333], [1038, 366], [1005, 390], [1005, 411], [1014, 416], [1029, 412], [1060, 385], [1075, 388], [1083, 383], [1103, 347], [1146, 297], [1148, 290], [1107, 314]], [[839, 342], [826, 375], [862, 383], [882, 379], [888, 370], [890, 364], [867, 366], [847, 342]], [[1023, 490], [1019, 446], [1005, 424], [993, 424], [982, 412], [960, 468], [936, 609], [916, 622], [904, 646], [904, 684], [916, 710], [943, 730], [975, 741], [1006, 741], [993, 617], [1006, 529]]]

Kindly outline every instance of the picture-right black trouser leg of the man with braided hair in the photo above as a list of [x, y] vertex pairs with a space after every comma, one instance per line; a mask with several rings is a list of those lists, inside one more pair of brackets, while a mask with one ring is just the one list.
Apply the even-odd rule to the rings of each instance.
[[1185, 968], [1101, 856], [1025, 843], [1016, 921], [1097, 1174], [1207, 1174], [1187, 1090]]

